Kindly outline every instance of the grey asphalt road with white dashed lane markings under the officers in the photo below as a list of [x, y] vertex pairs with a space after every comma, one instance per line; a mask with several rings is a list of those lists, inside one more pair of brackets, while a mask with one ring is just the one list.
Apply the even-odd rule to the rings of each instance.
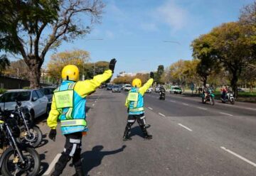
[[[139, 175], [256, 175], [256, 106], [254, 104], [202, 104], [201, 99], [155, 93], [145, 95], [150, 141], [142, 138], [137, 123], [132, 141], [122, 141], [127, 123], [126, 93], [99, 89], [87, 101], [90, 131], [82, 141], [85, 172], [104, 176]], [[44, 144], [41, 175], [53, 170], [64, 138], [47, 137], [44, 117], [38, 120]], [[73, 175], [67, 165], [63, 175]]]

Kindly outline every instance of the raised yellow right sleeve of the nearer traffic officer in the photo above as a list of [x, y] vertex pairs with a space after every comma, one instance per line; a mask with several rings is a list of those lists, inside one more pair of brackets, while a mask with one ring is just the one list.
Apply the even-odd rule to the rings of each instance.
[[110, 79], [110, 77], [112, 77], [112, 70], [106, 70], [102, 75], [96, 75], [93, 79], [77, 82], [74, 90], [84, 98], [95, 92], [97, 87], [100, 87], [100, 84]]

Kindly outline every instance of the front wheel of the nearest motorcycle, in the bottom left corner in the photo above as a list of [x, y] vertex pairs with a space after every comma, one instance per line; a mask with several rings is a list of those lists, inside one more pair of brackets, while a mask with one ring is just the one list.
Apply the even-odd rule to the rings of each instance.
[[21, 160], [16, 155], [15, 150], [9, 150], [9, 153], [4, 158], [3, 165], [1, 167], [2, 175], [38, 175], [41, 161], [36, 150], [33, 148], [26, 148], [21, 150], [21, 153], [23, 154], [25, 163], [21, 163]]

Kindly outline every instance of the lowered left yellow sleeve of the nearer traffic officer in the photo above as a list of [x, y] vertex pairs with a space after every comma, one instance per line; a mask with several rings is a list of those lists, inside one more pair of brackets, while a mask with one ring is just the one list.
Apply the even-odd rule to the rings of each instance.
[[57, 110], [56, 108], [56, 104], [55, 104], [55, 98], [53, 96], [53, 101], [51, 104], [51, 109], [50, 109], [50, 113], [47, 119], [47, 125], [51, 128], [51, 129], [56, 129], [57, 125], [58, 125], [58, 116], [60, 116], [60, 112]]

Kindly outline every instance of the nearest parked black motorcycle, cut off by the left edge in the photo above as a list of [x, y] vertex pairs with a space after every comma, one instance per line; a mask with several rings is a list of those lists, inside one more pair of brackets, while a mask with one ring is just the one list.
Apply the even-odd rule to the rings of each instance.
[[34, 148], [16, 141], [21, 132], [14, 115], [0, 109], [0, 119], [0, 145], [5, 149], [0, 159], [1, 174], [38, 175], [41, 160]]

